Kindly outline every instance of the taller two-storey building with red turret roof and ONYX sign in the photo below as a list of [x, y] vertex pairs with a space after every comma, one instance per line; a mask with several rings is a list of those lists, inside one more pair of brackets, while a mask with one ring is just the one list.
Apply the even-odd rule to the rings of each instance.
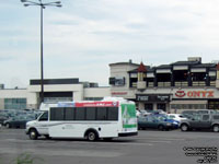
[[219, 65], [188, 58], [149, 67], [111, 63], [111, 94], [136, 102], [139, 109], [219, 109]]

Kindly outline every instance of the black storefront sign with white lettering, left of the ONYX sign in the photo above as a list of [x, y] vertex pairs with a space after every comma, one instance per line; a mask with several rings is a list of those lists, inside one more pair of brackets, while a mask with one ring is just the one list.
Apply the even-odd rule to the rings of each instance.
[[138, 102], [170, 102], [170, 95], [136, 95]]

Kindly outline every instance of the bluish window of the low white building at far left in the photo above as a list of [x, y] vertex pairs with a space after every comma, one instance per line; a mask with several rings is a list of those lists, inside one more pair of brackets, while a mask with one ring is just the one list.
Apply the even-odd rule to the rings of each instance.
[[4, 98], [4, 109], [25, 109], [26, 98]]

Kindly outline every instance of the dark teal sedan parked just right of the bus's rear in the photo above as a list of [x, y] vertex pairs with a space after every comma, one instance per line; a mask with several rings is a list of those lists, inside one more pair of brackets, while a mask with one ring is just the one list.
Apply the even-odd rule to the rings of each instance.
[[170, 130], [170, 129], [174, 129], [174, 125], [170, 121], [159, 119], [154, 115], [148, 115], [146, 117], [138, 118], [138, 128], [139, 129], [150, 128], [150, 129], [159, 129], [159, 130]]

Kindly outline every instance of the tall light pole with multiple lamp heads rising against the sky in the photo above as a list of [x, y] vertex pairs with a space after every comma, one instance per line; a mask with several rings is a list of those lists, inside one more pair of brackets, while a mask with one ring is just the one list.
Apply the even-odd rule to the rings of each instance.
[[44, 102], [44, 49], [43, 49], [43, 10], [46, 7], [61, 7], [60, 1], [55, 2], [46, 2], [43, 3], [42, 0], [38, 2], [30, 1], [30, 0], [21, 0], [24, 3], [24, 7], [28, 5], [38, 5], [41, 7], [41, 103]]

